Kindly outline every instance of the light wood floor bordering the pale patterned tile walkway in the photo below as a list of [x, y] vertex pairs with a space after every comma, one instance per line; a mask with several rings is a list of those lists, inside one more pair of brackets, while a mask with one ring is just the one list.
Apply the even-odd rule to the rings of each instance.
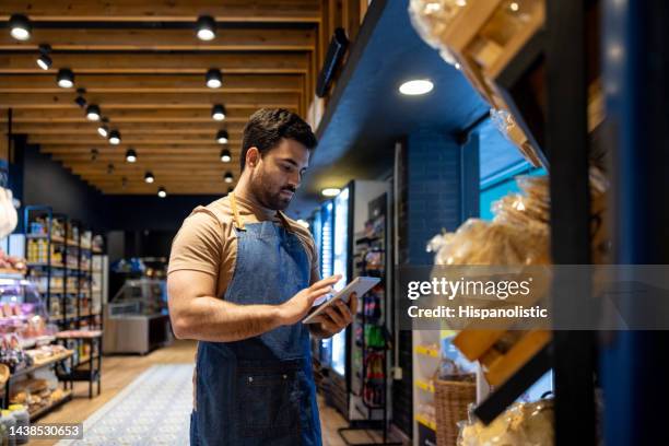
[[[195, 342], [176, 341], [173, 345], [159, 349], [145, 356], [105, 356], [103, 360], [103, 376], [105, 379], [103, 380], [102, 395], [97, 398], [89, 399], [86, 397], [87, 384], [77, 383], [74, 385], [74, 391], [79, 397], [75, 397], [68, 404], [49, 413], [47, 416], [39, 420], [39, 422], [83, 423], [151, 367], [165, 364], [192, 365], [195, 352]], [[320, 400], [319, 406], [324, 446], [343, 446], [344, 443], [339, 437], [337, 430], [345, 426], [345, 421], [334, 409], [325, 407]], [[86, 438], [85, 432], [84, 438]], [[94, 438], [89, 439], [93, 441]], [[36, 446], [51, 446], [56, 443], [56, 441], [31, 442], [32, 445]]]

